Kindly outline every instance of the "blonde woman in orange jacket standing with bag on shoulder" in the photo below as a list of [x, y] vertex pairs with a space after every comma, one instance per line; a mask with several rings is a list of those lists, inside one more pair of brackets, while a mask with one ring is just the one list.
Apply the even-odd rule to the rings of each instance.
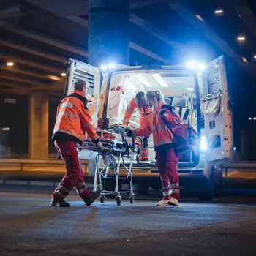
[[153, 133], [154, 148], [157, 153], [157, 166], [162, 181], [162, 193], [164, 197], [157, 206], [178, 206], [179, 184], [178, 184], [178, 157], [173, 150], [173, 135], [162, 121], [165, 120], [175, 127], [181, 123], [177, 111], [162, 108], [165, 102], [160, 91], [148, 91], [146, 94], [148, 104], [153, 106], [152, 115], [147, 120], [146, 128], [135, 129], [133, 135], [148, 136]]

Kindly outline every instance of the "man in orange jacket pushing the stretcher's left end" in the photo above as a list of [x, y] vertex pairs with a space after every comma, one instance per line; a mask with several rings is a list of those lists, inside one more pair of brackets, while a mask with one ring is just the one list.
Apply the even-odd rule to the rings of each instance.
[[95, 128], [91, 124], [91, 114], [87, 108], [86, 84], [84, 80], [76, 80], [75, 91], [64, 98], [57, 108], [52, 140], [66, 165], [67, 173], [53, 192], [51, 206], [69, 207], [69, 203], [64, 198], [69, 195], [73, 187], [87, 206], [90, 206], [100, 195], [99, 191], [90, 193], [84, 183], [83, 170], [76, 149], [83, 144], [85, 132], [88, 133], [97, 148], [102, 149], [102, 143], [99, 142]]

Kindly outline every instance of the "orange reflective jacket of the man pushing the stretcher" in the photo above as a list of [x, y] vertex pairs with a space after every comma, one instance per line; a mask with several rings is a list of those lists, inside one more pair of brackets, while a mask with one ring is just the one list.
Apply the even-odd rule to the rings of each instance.
[[[73, 94], [82, 96], [84, 102]], [[86, 97], [82, 91], [73, 91], [69, 97], [62, 99], [57, 108], [57, 118], [53, 129], [53, 138], [57, 138], [56, 133], [70, 135], [71, 138], [76, 138], [83, 143], [85, 132], [88, 133], [91, 140], [97, 143], [98, 136], [95, 132], [94, 126], [91, 124], [91, 113], [86, 108]]]

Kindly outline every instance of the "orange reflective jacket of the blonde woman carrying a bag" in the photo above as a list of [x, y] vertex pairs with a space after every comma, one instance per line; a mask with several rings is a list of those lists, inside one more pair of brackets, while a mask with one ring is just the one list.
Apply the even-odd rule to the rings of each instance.
[[154, 105], [152, 114], [147, 118], [146, 128], [135, 129], [135, 135], [137, 136], [149, 136], [153, 133], [155, 151], [158, 151], [162, 146], [171, 146], [171, 143], [173, 143], [173, 135], [162, 121], [162, 117], [159, 116], [159, 110], [164, 111], [165, 120], [171, 126], [181, 123], [181, 118], [176, 110], [171, 112], [167, 108], [162, 109], [162, 105], [164, 105], [164, 102], [157, 102]]

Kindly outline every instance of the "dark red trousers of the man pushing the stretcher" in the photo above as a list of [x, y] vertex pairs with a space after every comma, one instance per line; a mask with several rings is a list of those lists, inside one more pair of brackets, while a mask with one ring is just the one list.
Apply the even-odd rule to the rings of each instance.
[[54, 145], [66, 165], [67, 173], [53, 192], [53, 198], [67, 197], [73, 187], [75, 187], [78, 195], [82, 198], [90, 195], [89, 189], [83, 181], [83, 169], [80, 165], [75, 142], [56, 140]]

